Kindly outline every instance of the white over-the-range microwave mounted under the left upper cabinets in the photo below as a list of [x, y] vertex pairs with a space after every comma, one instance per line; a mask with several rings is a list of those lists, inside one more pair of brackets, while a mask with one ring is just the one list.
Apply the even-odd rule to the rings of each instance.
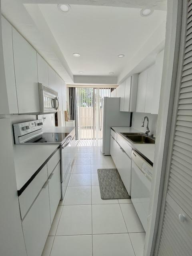
[[40, 114], [56, 113], [59, 107], [58, 92], [38, 83]]

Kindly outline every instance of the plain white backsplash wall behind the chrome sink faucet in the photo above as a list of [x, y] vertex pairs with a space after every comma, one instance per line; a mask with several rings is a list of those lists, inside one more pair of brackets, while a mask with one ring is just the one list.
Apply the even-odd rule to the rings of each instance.
[[140, 130], [142, 132], [145, 132], [147, 120], [145, 120], [144, 127], [141, 127], [141, 123], [142, 123], [144, 116], [148, 116], [148, 118], [149, 118], [150, 134], [154, 134], [154, 136], [156, 136], [157, 117], [158, 117], [158, 115], [156, 115], [156, 114], [133, 112], [132, 127], [137, 130]]

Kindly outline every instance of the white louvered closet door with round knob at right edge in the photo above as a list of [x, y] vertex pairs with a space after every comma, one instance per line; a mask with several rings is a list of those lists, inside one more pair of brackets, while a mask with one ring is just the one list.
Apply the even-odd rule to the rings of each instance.
[[192, 255], [192, 0], [183, 4], [185, 48], [158, 256]]

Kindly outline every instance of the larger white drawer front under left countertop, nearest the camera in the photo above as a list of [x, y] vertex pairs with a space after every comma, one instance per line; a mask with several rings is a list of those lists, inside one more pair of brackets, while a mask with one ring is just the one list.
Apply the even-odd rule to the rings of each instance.
[[23, 218], [27, 213], [47, 178], [47, 165], [45, 165], [35, 176], [32, 182], [27, 186], [24, 192], [22, 192], [22, 194], [19, 196], [21, 218]]

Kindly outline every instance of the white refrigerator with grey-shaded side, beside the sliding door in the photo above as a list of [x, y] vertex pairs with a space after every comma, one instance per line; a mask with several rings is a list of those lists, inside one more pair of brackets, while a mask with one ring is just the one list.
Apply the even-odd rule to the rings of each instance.
[[120, 98], [102, 98], [99, 110], [99, 128], [102, 133], [100, 150], [102, 154], [110, 155], [110, 129], [112, 126], [130, 127], [131, 113], [121, 112]]

